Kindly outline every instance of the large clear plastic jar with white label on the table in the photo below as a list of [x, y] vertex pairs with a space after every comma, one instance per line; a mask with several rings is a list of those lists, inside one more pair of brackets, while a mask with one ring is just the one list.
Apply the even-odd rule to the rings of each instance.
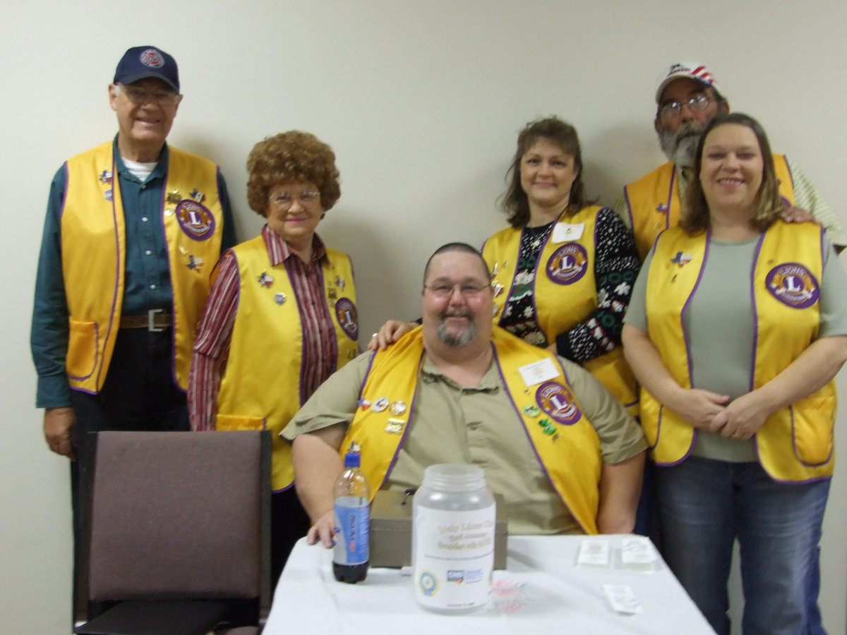
[[412, 521], [418, 605], [448, 614], [484, 606], [494, 571], [494, 530], [494, 497], [481, 467], [427, 467]]

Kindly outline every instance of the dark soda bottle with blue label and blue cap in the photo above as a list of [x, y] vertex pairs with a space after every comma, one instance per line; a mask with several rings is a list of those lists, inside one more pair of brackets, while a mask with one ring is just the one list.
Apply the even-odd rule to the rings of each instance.
[[351, 444], [344, 472], [335, 482], [335, 550], [332, 571], [339, 582], [355, 584], [368, 575], [370, 486], [359, 469], [360, 448]]

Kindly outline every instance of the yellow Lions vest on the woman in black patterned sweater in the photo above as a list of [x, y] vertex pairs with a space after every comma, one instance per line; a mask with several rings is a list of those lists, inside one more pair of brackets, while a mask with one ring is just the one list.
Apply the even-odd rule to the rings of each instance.
[[[560, 217], [562, 225], [567, 226], [576, 237], [566, 239], [567, 242], [553, 243], [551, 233], [541, 248], [533, 276], [533, 297], [539, 326], [549, 344], [556, 341], [557, 334], [572, 329], [597, 308], [595, 223], [600, 210], [601, 207], [591, 205], [572, 217]], [[502, 322], [503, 307], [512, 295], [521, 234], [521, 229], [502, 229], [486, 240], [482, 248], [495, 292], [497, 312], [494, 319], [497, 324]], [[583, 366], [627, 407], [629, 414], [638, 414], [635, 377], [623, 358], [620, 346], [585, 362]]]

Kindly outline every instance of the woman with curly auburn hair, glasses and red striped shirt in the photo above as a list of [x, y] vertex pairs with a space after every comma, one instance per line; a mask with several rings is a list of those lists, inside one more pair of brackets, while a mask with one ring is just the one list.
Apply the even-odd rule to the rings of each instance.
[[341, 193], [332, 149], [291, 130], [257, 143], [247, 170], [247, 201], [268, 224], [220, 259], [194, 345], [188, 404], [194, 430], [273, 431], [275, 585], [309, 528], [291, 487], [291, 444], [279, 433], [357, 355], [356, 290], [350, 258], [315, 233]]

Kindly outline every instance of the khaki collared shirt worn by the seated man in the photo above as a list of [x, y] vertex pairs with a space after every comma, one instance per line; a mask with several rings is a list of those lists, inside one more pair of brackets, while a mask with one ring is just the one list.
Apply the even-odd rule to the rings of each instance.
[[[372, 356], [358, 356], [327, 379], [282, 431], [285, 439], [337, 423], [346, 428]], [[581, 367], [560, 361], [600, 437], [603, 461], [645, 450], [641, 428], [620, 402]], [[383, 488], [418, 488], [426, 467], [437, 463], [483, 467], [490, 489], [506, 500], [509, 533], [582, 533], [541, 468], [495, 364], [479, 386], [462, 389], [424, 359], [407, 438]]]

